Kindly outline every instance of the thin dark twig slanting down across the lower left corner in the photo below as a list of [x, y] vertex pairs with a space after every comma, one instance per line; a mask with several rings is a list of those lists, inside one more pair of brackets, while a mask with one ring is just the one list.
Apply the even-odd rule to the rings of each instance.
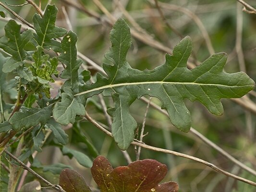
[[33, 169], [27, 167], [20, 159], [18, 159], [16, 156], [13, 156], [9, 151], [5, 151], [5, 153], [10, 156], [14, 161], [16, 161], [17, 163], [19, 163], [24, 169], [28, 170], [32, 175], [34, 175], [35, 177], [37, 177], [38, 179], [42, 180], [44, 183], [46, 183], [49, 187], [55, 189], [58, 192], [65, 192], [62, 187], [60, 185], [57, 184], [52, 184], [51, 182], [49, 182], [48, 180], [44, 179], [42, 176], [40, 176], [39, 174], [37, 174], [37, 172], [35, 172]]

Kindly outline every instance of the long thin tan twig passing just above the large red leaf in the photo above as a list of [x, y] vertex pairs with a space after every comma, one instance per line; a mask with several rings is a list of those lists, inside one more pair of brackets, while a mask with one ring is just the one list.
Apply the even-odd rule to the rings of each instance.
[[[112, 134], [111, 132], [109, 132], [108, 130], [106, 130], [104, 127], [102, 127], [96, 120], [92, 119], [88, 113], [85, 114], [85, 117], [87, 120], [89, 120], [91, 123], [93, 123], [98, 129], [100, 129], [101, 131], [105, 132], [107, 135], [111, 136], [112, 137]], [[171, 154], [171, 155], [174, 155], [174, 156], [180, 156], [180, 157], [183, 157], [183, 158], [187, 158], [187, 159], [191, 159], [193, 161], [196, 161], [198, 163], [202, 163], [204, 165], [206, 165], [207, 167], [209, 168], [212, 168], [214, 169], [215, 171], [219, 172], [219, 173], [222, 173], [230, 178], [233, 178], [235, 180], [241, 180], [245, 183], [248, 183], [250, 185], [253, 185], [253, 186], [256, 186], [256, 182], [254, 181], [251, 181], [251, 180], [247, 180], [247, 179], [244, 179], [242, 177], [239, 177], [239, 176], [236, 176], [228, 171], [225, 171], [221, 168], [219, 168], [218, 166], [210, 163], [210, 162], [207, 162], [203, 159], [200, 159], [200, 158], [197, 158], [197, 157], [194, 157], [194, 156], [189, 156], [189, 155], [186, 155], [186, 154], [183, 154], [183, 153], [179, 153], [179, 152], [176, 152], [176, 151], [171, 151], [171, 150], [167, 150], [167, 149], [162, 149], [162, 148], [158, 148], [158, 147], [153, 147], [153, 146], [150, 146], [150, 145], [147, 145], [147, 144], [142, 144], [142, 143], [139, 143], [139, 142], [132, 142], [133, 145], [137, 145], [137, 146], [140, 146], [140, 147], [143, 147], [143, 148], [146, 148], [146, 149], [149, 149], [149, 150], [152, 150], [152, 151], [158, 151], [158, 152], [162, 152], [162, 153], [166, 153], [166, 154]]]

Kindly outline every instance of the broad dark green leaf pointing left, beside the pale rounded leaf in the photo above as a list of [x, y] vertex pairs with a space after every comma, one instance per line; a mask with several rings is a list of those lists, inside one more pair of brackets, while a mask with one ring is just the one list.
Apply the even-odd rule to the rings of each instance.
[[46, 108], [30, 108], [29, 110], [23, 110], [21, 112], [15, 112], [10, 119], [10, 124], [13, 129], [19, 130], [23, 127], [30, 128], [37, 124], [46, 124], [50, 119], [52, 106]]

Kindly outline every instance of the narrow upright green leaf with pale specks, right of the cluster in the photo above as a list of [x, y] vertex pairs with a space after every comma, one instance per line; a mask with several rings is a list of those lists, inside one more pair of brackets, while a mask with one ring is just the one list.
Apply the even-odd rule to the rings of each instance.
[[67, 35], [63, 37], [61, 41], [62, 53], [59, 60], [66, 65], [61, 73], [61, 78], [68, 79], [72, 86], [73, 91], [78, 88], [78, 69], [82, 64], [82, 60], [77, 58], [76, 49], [77, 36], [72, 31], [69, 31]]

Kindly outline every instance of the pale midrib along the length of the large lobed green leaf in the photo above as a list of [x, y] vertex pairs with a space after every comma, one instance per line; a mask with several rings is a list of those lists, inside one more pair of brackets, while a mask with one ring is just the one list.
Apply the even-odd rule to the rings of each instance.
[[121, 83], [121, 84], [109, 84], [101, 87], [97, 87], [94, 89], [90, 89], [87, 91], [83, 91], [81, 93], [75, 94], [74, 96], [81, 96], [85, 95], [87, 93], [91, 93], [94, 91], [99, 91], [102, 89], [108, 89], [108, 88], [113, 88], [113, 87], [120, 87], [120, 86], [129, 86], [129, 85], [140, 85], [140, 84], [190, 84], [190, 85], [199, 85], [199, 86], [222, 86], [222, 87], [244, 87], [244, 86], [250, 86], [251, 84], [245, 84], [245, 85], [224, 85], [224, 84], [199, 84], [199, 83], [191, 83], [191, 82], [163, 82], [163, 81], [153, 81], [153, 82], [134, 82], [134, 83]]

